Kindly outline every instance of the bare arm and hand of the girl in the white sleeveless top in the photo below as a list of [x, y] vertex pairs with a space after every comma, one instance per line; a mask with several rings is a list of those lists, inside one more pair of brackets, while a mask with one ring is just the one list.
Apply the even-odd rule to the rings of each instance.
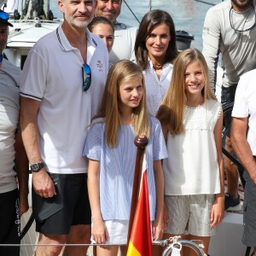
[[220, 193], [216, 195], [216, 199], [212, 205], [212, 212], [211, 212], [212, 227], [215, 227], [224, 218], [224, 162], [223, 162], [223, 154], [222, 154], [222, 128], [223, 128], [223, 112], [221, 112], [213, 131], [215, 143], [216, 143], [216, 149], [217, 149], [217, 157], [218, 157]]

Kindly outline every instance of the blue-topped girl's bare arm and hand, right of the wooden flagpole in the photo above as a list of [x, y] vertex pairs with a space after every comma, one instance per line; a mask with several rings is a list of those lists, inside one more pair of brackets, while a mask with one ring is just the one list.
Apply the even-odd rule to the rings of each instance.
[[156, 212], [152, 225], [154, 240], [160, 240], [164, 234], [164, 175], [160, 160], [154, 161], [154, 182], [156, 191]]

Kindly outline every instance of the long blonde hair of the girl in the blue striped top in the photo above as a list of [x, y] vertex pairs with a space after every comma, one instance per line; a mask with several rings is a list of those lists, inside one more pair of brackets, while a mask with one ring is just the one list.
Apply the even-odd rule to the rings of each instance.
[[102, 105], [95, 118], [103, 118], [105, 122], [105, 137], [109, 147], [115, 147], [118, 143], [118, 130], [122, 128], [121, 109], [119, 108], [119, 85], [130, 81], [137, 75], [142, 77], [143, 97], [137, 108], [132, 111], [132, 123], [136, 135], [149, 137], [149, 116], [146, 105], [146, 91], [143, 71], [137, 64], [131, 61], [119, 61], [110, 68], [108, 79], [102, 98]]

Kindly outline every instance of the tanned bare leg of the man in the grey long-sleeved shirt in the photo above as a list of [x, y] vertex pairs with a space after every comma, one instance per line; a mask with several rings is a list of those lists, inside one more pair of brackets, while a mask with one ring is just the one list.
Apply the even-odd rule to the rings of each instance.
[[[225, 148], [226, 150], [232, 154], [234, 153], [234, 150], [232, 148], [232, 144], [230, 141], [230, 137], [226, 137], [225, 139]], [[230, 159], [225, 157], [225, 167], [226, 167], [226, 173], [228, 178], [228, 193], [233, 198], [237, 198], [238, 196], [238, 172], [236, 169], [236, 165], [231, 163]]]

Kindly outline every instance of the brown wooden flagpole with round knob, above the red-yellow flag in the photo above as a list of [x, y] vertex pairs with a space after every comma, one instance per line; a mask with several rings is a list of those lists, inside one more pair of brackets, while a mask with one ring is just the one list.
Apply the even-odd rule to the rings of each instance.
[[131, 196], [131, 212], [130, 212], [127, 243], [129, 243], [129, 240], [130, 240], [131, 226], [132, 226], [133, 218], [136, 212], [137, 199], [138, 199], [140, 182], [142, 177], [143, 154], [146, 146], [148, 145], [148, 138], [145, 136], [137, 136], [134, 140], [134, 143], [137, 146], [137, 156], [136, 156], [136, 164], [135, 164], [135, 170], [134, 170], [133, 188], [132, 188], [132, 196]]

